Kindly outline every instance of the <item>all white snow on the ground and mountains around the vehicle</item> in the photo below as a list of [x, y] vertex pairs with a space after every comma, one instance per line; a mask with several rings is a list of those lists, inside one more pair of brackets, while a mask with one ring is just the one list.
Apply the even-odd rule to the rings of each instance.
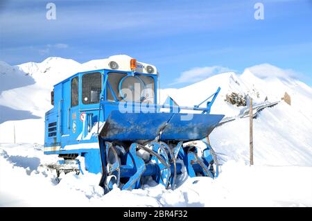
[[312, 206], [312, 89], [272, 67], [278, 73], [253, 67], [161, 91], [162, 102], [170, 95], [178, 105], [190, 106], [221, 87], [211, 113], [226, 116], [243, 109], [226, 103], [226, 94], [249, 94], [261, 103], [266, 97], [281, 100], [287, 92], [291, 105], [281, 101], [254, 119], [254, 166], [249, 166], [248, 118], [239, 118], [209, 137], [222, 164], [218, 179], [180, 177], [174, 191], [150, 180], [142, 189], [114, 188], [106, 195], [98, 186], [101, 174], [62, 174], [56, 182], [55, 173], [43, 166], [58, 160], [44, 155], [42, 146], [50, 91], [73, 73], [101, 64], [64, 58], [15, 67], [0, 62], [0, 206]]

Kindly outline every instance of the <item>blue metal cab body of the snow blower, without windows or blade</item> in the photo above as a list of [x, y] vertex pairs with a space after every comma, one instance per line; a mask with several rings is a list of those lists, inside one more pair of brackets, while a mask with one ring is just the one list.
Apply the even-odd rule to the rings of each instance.
[[[101, 73], [101, 103], [85, 105], [82, 100], [82, 78], [89, 73]], [[54, 86], [53, 109], [45, 114], [44, 154], [78, 154], [85, 157], [86, 170], [101, 172], [98, 134], [89, 134], [98, 122], [104, 122], [112, 110], [119, 109], [119, 102], [107, 100], [107, 90], [112, 90], [107, 82], [109, 73], [125, 73], [127, 76], [149, 76], [157, 82], [157, 75], [99, 69], [76, 73]], [[71, 80], [78, 77], [78, 105], [71, 107]], [[155, 83], [155, 86], [157, 84]], [[113, 93], [114, 94], [114, 93]], [[157, 87], [155, 87], [155, 103]], [[116, 96], [116, 95], [114, 95]], [[81, 121], [80, 116], [85, 115]], [[87, 134], [91, 136], [87, 136]]]

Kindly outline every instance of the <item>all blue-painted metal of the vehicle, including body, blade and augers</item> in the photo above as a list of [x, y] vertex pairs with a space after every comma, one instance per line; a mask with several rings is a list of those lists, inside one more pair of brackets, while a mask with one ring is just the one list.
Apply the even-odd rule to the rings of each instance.
[[[84, 104], [82, 79], [89, 73], [101, 75], [100, 101]], [[125, 74], [118, 83], [119, 90], [123, 80], [130, 76], [139, 80], [139, 76], [153, 78], [153, 103], [119, 101], [112, 82], [108, 80], [110, 73]], [[71, 107], [73, 78], [78, 78], [78, 105]], [[139, 188], [141, 177], [146, 176], [153, 177], [155, 182], [166, 188], [174, 188], [176, 175], [182, 173], [182, 163], [175, 163], [177, 159], [183, 160], [191, 177], [217, 177], [218, 169], [216, 173], [211, 169], [211, 163], [214, 162], [211, 147], [206, 143], [207, 148], [203, 151], [202, 158], [198, 158], [198, 148], [190, 150], [183, 143], [205, 139], [223, 118], [224, 115], [221, 114], [209, 114], [220, 88], [200, 103], [202, 105], [207, 102], [206, 107], [181, 107], [170, 97], [164, 105], [157, 105], [157, 78], [158, 75], [153, 74], [100, 69], [76, 73], [55, 85], [53, 109], [46, 112], [45, 116], [44, 154], [76, 154], [85, 157], [85, 168], [81, 168], [78, 161], [80, 170], [102, 173], [100, 184], [105, 187], [105, 193], [114, 184], [120, 185], [122, 189]], [[107, 100], [107, 91], [111, 91], [113, 100]], [[119, 95], [123, 97], [122, 93]], [[121, 106], [127, 112], [121, 112]], [[162, 108], [168, 112], [161, 112]], [[202, 114], [182, 114], [182, 109], [199, 110]], [[84, 118], [82, 114], [85, 114]], [[100, 130], [97, 123], [104, 121]], [[141, 144], [145, 142], [152, 142], [150, 145], [153, 148], [144, 150], [145, 144]], [[149, 151], [150, 159], [141, 159], [137, 154], [139, 149]]]

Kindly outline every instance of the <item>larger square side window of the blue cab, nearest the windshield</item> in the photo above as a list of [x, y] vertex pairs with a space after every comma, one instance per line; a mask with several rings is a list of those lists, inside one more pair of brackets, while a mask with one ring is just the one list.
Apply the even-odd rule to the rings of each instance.
[[86, 73], [83, 76], [83, 104], [95, 104], [100, 101], [102, 76], [100, 72]]

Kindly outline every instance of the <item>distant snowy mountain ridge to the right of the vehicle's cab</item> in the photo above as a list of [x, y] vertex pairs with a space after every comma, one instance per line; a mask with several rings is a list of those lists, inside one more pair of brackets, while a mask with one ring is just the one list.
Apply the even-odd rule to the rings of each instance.
[[[220, 73], [200, 82], [180, 89], [162, 89], [160, 92], [161, 102], [171, 96], [178, 105], [198, 105], [220, 87], [220, 93], [216, 99], [211, 114], [225, 114], [235, 116], [242, 107], [236, 107], [225, 102], [226, 94], [235, 92], [241, 95], [249, 95], [254, 103], [261, 103], [266, 98], [274, 102], [281, 100], [285, 92], [291, 96], [292, 106], [302, 111], [312, 109], [312, 89], [299, 80], [292, 78], [265, 78], [254, 76], [250, 69], [245, 69], [243, 74], [234, 72]], [[205, 103], [202, 107], [205, 107]], [[302, 109], [304, 107], [304, 109]], [[306, 112], [306, 111], [305, 111]], [[312, 118], [311, 112], [306, 112]]]

